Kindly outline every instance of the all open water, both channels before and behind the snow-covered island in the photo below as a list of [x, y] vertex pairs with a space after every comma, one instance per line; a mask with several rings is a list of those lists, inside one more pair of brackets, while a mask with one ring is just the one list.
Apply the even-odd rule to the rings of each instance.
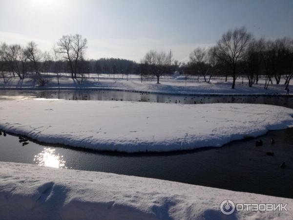
[[[166, 95], [110, 90], [0, 90], [2, 98], [60, 98], [67, 100], [123, 100], [184, 104], [234, 102], [273, 104], [293, 108], [292, 97], [262, 95]], [[19, 98], [19, 97], [18, 97]], [[166, 179], [235, 191], [293, 198], [293, 129], [273, 131], [256, 139], [234, 141], [222, 148], [194, 151], [123, 154], [45, 145], [18, 136], [0, 135], [0, 161], [32, 163], [67, 169], [110, 172]], [[271, 144], [271, 138], [275, 143]], [[273, 152], [274, 155], [268, 155]], [[286, 167], [280, 168], [285, 162]]]

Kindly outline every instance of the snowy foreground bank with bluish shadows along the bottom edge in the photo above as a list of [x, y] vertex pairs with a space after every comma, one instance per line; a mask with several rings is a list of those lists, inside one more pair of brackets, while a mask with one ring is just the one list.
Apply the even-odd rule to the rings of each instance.
[[[220, 203], [288, 203], [288, 211], [220, 212]], [[0, 162], [0, 219], [291, 220], [293, 199], [166, 180]]]

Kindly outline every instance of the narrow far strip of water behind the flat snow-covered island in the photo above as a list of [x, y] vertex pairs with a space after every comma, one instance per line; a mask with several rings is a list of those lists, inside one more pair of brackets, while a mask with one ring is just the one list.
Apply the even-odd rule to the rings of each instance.
[[286, 95], [170, 95], [115, 90], [60, 89], [60, 90], [5, 90], [0, 96], [25, 96], [31, 98], [65, 100], [113, 100], [180, 104], [251, 103], [293, 108], [293, 96]]

